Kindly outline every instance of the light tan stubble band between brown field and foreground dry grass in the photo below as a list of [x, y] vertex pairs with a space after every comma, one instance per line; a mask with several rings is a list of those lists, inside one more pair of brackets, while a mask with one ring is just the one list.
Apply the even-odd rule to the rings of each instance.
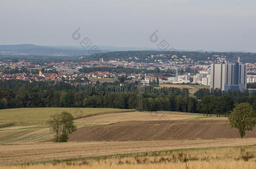
[[0, 146], [0, 164], [169, 149], [255, 145], [256, 139], [44, 143]]

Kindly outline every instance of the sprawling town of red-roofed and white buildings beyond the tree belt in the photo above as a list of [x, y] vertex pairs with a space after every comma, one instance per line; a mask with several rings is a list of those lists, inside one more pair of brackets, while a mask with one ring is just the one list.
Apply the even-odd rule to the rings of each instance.
[[[178, 58], [177, 55], [172, 55], [170, 61], [163, 62], [158, 57], [165, 57], [164, 54], [151, 55], [151, 58], [156, 58], [154, 63], [135, 61], [120, 61], [109, 60], [104, 61], [100, 58], [99, 61], [89, 62], [52, 62], [37, 64], [31, 61], [0, 61], [0, 74], [1, 80], [21, 79], [35, 81], [63, 81], [71, 85], [78, 85], [81, 83], [95, 83], [97, 80], [100, 82], [113, 82], [126, 77], [126, 83], [134, 83], [140, 81], [145, 86], [150, 83], [158, 81], [159, 84], [198, 84], [210, 86], [211, 83], [211, 64], [212, 63], [229, 63], [226, 56], [214, 55], [215, 61], [193, 61], [185, 55]], [[83, 58], [81, 56], [80, 58]], [[131, 59], [131, 58], [129, 58]], [[137, 59], [135, 57], [135, 59]], [[256, 82], [256, 63], [246, 63], [247, 66], [247, 83]], [[111, 72], [111, 71], [91, 71], [84, 73], [83, 68], [132, 68], [137, 70], [151, 70], [152, 73], [127, 73], [127, 72]], [[157, 70], [157, 71], [154, 71]], [[171, 72], [171, 73], [165, 73]], [[157, 80], [158, 79], [158, 80]]]

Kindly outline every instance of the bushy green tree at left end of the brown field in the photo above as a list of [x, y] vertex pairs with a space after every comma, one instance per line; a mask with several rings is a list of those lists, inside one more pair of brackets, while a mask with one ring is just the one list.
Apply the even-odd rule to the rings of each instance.
[[72, 114], [63, 111], [61, 114], [55, 114], [50, 120], [50, 126], [55, 132], [55, 142], [67, 142], [68, 134], [76, 131], [76, 126], [73, 124], [74, 118]]

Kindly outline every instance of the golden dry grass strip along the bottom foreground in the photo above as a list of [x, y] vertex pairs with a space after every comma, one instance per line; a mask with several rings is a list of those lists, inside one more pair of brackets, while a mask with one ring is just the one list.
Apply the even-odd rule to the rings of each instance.
[[3, 169], [254, 169], [256, 146], [237, 146], [222, 148], [179, 149], [98, 156], [66, 161], [48, 161], [39, 164], [2, 166]]

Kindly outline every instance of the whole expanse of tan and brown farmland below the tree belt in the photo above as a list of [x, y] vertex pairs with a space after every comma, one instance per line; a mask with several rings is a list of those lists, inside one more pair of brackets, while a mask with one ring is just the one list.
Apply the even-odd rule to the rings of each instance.
[[[69, 135], [68, 143], [53, 143], [46, 123], [50, 115], [61, 111], [76, 117], [78, 130]], [[0, 165], [26, 165], [2, 168], [250, 168], [255, 164], [250, 154], [256, 152], [256, 129], [240, 139], [226, 117], [111, 108], [20, 108], [9, 112], [3, 117], [16, 124], [0, 128]], [[36, 121], [29, 114], [42, 119]], [[240, 149], [250, 153], [248, 161], [242, 158], [246, 151], [241, 154]], [[223, 161], [228, 163], [222, 166]]]

